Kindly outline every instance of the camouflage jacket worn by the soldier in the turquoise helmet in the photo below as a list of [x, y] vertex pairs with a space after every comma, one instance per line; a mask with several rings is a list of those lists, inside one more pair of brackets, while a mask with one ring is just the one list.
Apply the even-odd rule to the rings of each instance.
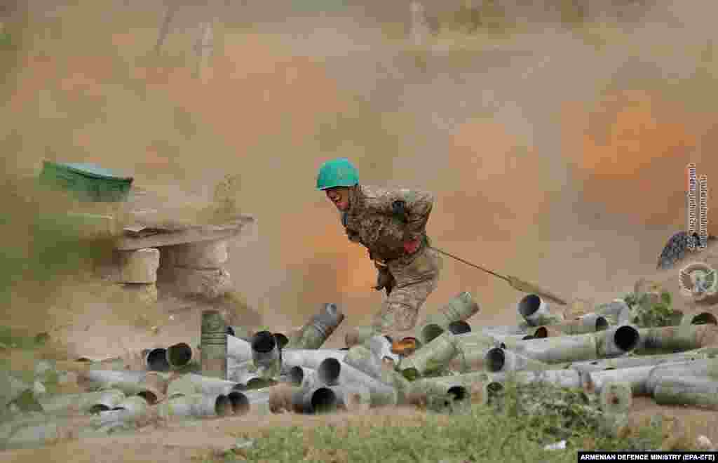
[[[402, 205], [403, 217], [398, 213]], [[426, 222], [433, 205], [429, 192], [358, 185], [350, 190], [342, 225], [351, 241], [368, 249], [370, 258], [385, 262], [407, 258], [407, 240], [421, 239], [419, 251], [426, 245]]]

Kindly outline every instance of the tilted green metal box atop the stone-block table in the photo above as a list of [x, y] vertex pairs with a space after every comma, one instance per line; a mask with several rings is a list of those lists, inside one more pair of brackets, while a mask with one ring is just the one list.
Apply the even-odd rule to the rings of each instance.
[[126, 200], [132, 177], [121, 177], [94, 164], [43, 162], [40, 182], [78, 193], [81, 199], [98, 202]]

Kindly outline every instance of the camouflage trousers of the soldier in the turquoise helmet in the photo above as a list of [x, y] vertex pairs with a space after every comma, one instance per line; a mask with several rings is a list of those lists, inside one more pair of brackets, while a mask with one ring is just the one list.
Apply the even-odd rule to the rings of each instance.
[[436, 251], [428, 248], [419, 253], [410, 263], [389, 263], [396, 286], [384, 299], [371, 326], [374, 331], [393, 340], [414, 336], [419, 309], [429, 294], [437, 289], [441, 258]]

